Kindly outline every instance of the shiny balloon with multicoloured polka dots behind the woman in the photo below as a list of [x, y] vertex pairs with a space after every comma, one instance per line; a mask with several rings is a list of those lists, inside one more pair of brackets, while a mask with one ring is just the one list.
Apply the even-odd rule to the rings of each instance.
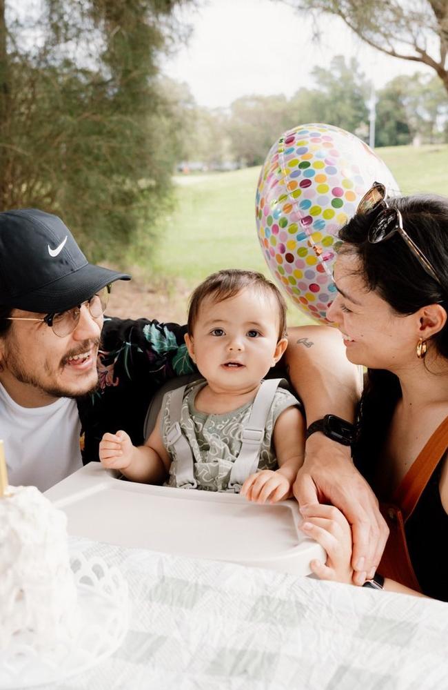
[[338, 230], [374, 181], [398, 185], [383, 161], [338, 127], [307, 124], [269, 151], [256, 190], [258, 239], [278, 285], [320, 322], [334, 299]]

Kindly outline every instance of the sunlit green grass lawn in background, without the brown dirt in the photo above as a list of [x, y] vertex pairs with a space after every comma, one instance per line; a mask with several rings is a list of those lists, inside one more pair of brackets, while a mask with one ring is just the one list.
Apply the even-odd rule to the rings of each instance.
[[[448, 195], [448, 145], [396, 146], [376, 153], [394, 173], [404, 194]], [[219, 268], [269, 269], [256, 237], [254, 198], [260, 168], [176, 178], [176, 208], [165, 217], [153, 270], [189, 289]], [[184, 298], [182, 298], [184, 299]], [[289, 324], [310, 322], [295, 306]]]

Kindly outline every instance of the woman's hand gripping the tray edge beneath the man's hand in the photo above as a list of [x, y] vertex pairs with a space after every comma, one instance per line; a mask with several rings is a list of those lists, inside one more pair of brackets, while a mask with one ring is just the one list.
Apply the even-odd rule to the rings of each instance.
[[352, 583], [352, 529], [343, 513], [320, 503], [303, 506], [301, 513], [301, 530], [327, 551], [325, 564], [318, 560], [310, 563], [313, 573], [320, 580]]

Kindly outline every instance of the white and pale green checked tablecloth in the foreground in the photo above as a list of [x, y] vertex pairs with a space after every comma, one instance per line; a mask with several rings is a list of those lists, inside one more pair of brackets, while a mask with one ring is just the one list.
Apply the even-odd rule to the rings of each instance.
[[70, 546], [125, 575], [130, 630], [108, 660], [49, 690], [448, 687], [442, 602], [77, 538]]

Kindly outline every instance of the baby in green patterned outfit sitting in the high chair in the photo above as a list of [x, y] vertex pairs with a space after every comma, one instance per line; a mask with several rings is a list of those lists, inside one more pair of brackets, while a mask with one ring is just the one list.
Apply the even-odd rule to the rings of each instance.
[[292, 495], [305, 420], [278, 380], [263, 377], [287, 346], [286, 305], [261, 273], [221, 270], [190, 299], [187, 344], [203, 376], [163, 398], [144, 446], [106, 433], [103, 466], [136, 482], [238, 491], [271, 503]]

